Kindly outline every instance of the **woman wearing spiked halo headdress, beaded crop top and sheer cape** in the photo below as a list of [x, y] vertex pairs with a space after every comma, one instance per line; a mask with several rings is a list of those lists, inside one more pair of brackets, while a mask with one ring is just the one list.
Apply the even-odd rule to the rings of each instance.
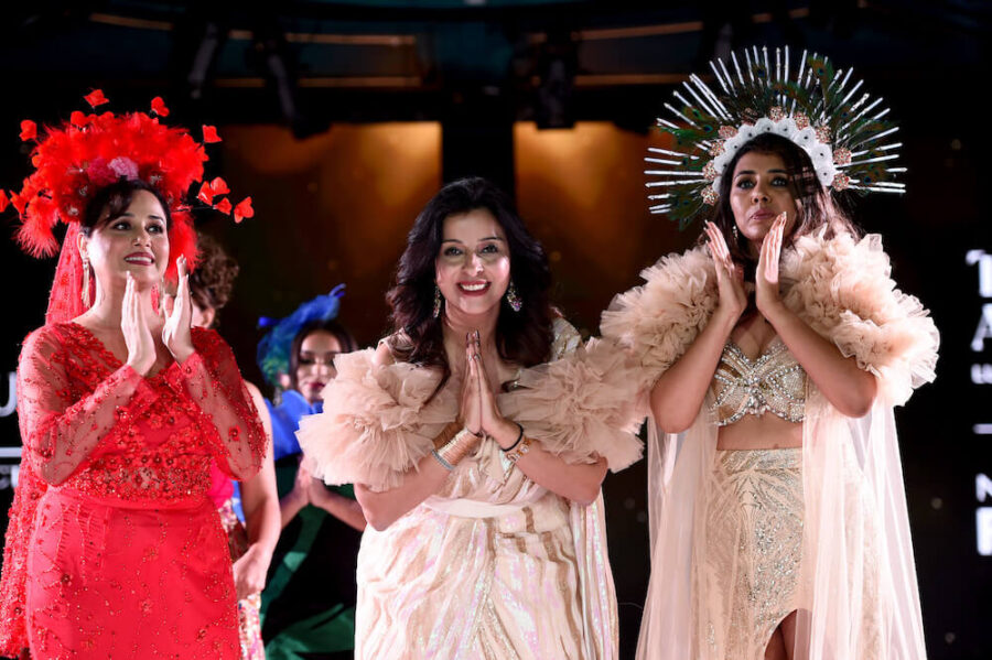
[[603, 334], [649, 388], [653, 575], [638, 658], [925, 657], [893, 405], [938, 334], [833, 197], [902, 192], [850, 72], [756, 48], [676, 94], [653, 209], [708, 221]]

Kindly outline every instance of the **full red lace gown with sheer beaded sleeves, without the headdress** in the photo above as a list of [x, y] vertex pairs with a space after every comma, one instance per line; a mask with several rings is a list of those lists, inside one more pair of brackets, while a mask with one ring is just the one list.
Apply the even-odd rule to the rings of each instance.
[[142, 378], [74, 323], [24, 342], [0, 653], [238, 657], [227, 537], [206, 494], [212, 461], [245, 478], [265, 436], [228, 346], [202, 329], [193, 344]]

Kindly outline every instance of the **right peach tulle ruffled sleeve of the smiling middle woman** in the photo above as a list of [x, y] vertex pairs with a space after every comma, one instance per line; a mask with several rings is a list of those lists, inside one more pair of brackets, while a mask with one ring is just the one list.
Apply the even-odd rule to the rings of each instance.
[[499, 396], [499, 410], [564, 462], [592, 463], [597, 455], [618, 472], [644, 448], [636, 435], [644, 419], [637, 371], [625, 350], [590, 339], [560, 359], [524, 369], [517, 389]]

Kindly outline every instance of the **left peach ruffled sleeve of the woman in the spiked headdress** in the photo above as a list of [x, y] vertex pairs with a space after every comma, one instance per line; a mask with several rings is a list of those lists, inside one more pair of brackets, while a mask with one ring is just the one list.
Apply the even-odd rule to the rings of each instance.
[[665, 372], [707, 326], [716, 309], [716, 272], [704, 247], [662, 257], [645, 283], [621, 293], [603, 313], [603, 337], [630, 350], [643, 383]]

